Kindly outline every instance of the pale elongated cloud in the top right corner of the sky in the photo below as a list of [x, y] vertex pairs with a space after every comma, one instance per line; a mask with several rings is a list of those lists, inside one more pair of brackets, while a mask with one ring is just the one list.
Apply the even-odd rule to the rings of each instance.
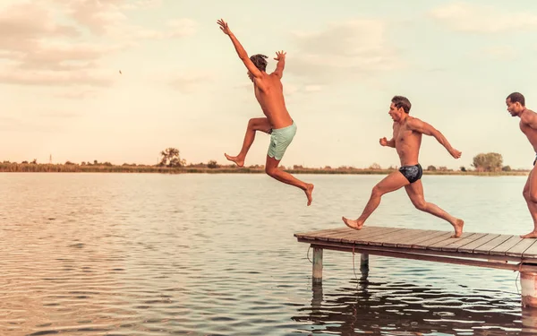
[[445, 4], [431, 10], [429, 15], [456, 31], [498, 33], [537, 30], [537, 14], [506, 13], [489, 4]]

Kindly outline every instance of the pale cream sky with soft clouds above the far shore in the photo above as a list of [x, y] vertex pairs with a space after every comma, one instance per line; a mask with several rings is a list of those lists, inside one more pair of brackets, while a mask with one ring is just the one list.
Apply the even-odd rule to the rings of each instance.
[[[422, 166], [494, 151], [532, 168], [505, 105], [519, 91], [537, 106], [529, 0], [0, 0], [0, 160], [155, 164], [175, 147], [187, 163], [228, 163], [263, 114], [220, 18], [268, 72], [287, 53], [298, 130], [284, 166], [398, 166], [379, 138], [403, 95], [463, 153], [424, 136]], [[258, 134], [245, 164], [264, 164], [268, 142]]]

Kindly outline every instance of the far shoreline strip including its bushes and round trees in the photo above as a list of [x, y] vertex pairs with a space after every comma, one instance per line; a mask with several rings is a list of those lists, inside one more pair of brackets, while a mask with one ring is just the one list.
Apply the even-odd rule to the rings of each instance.
[[[0, 163], [0, 172], [13, 173], [159, 173], [159, 174], [264, 174], [265, 167], [262, 165], [253, 165], [239, 168], [234, 163], [219, 165], [214, 159], [208, 163], [188, 164], [185, 159], [179, 155], [179, 150], [173, 147], [166, 148], [160, 152], [160, 162], [156, 165], [143, 165], [136, 163], [124, 163], [123, 165], [114, 165], [110, 162], [93, 162], [82, 161], [73, 163], [66, 161], [64, 164], [38, 163], [37, 159], [31, 162], [22, 161], [21, 163], [4, 161]], [[52, 156], [50, 157], [52, 161]], [[512, 169], [503, 165], [503, 158], [499, 153], [481, 153], [473, 158], [472, 168], [464, 166], [455, 169], [447, 167], [427, 166], [423, 167], [424, 175], [473, 175], [473, 176], [524, 176], [528, 175], [530, 170]], [[303, 166], [280, 166], [291, 174], [320, 174], [320, 175], [388, 175], [397, 167], [382, 168], [378, 163], [373, 163], [369, 168], [354, 168], [342, 166], [332, 168], [309, 168]]]

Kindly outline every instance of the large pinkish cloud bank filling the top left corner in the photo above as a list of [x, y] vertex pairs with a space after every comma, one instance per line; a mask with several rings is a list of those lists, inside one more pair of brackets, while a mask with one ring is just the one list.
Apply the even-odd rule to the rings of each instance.
[[107, 56], [141, 39], [192, 35], [196, 22], [177, 19], [159, 30], [132, 25], [129, 11], [155, 0], [30, 0], [0, 6], [0, 82], [15, 85], [107, 87], [115, 69]]

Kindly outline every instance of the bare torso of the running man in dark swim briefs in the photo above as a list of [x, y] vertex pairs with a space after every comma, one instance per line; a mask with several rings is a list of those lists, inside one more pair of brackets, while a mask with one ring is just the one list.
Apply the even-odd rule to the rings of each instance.
[[401, 166], [413, 166], [419, 163], [420, 146], [422, 145], [422, 134], [414, 132], [408, 128], [408, 120], [412, 116], [407, 116], [403, 124], [394, 123], [394, 140], [396, 151], [401, 161]]

